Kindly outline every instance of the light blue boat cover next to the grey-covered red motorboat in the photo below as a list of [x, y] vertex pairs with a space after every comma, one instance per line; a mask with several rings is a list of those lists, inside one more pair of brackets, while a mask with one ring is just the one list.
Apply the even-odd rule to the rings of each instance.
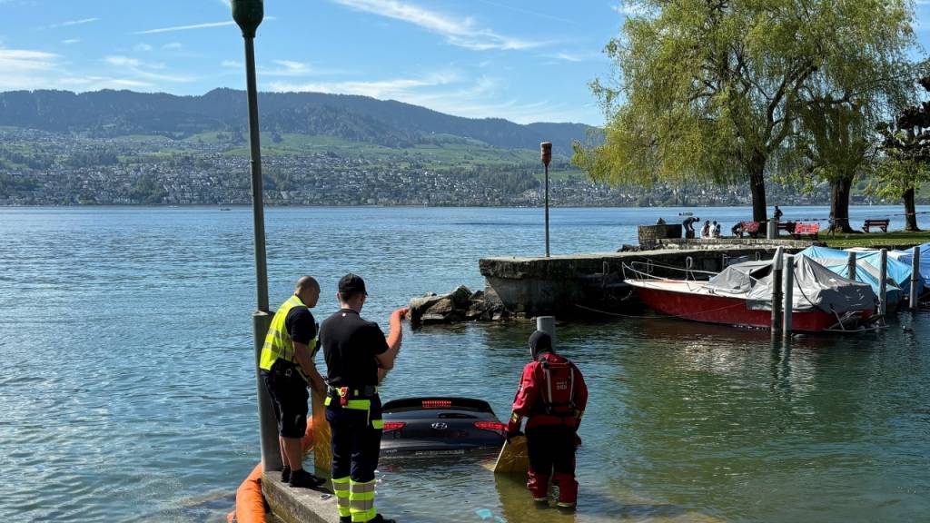
[[[839, 248], [808, 247], [799, 252], [830, 269], [830, 271], [848, 277], [849, 252]], [[879, 294], [879, 271], [882, 267], [882, 253], [877, 250], [856, 252], [856, 281], [868, 283], [872, 291]], [[891, 256], [887, 259], [888, 283], [885, 285], [885, 297], [889, 305], [895, 305], [907, 295], [904, 289], [910, 289], [910, 265], [898, 262]]]

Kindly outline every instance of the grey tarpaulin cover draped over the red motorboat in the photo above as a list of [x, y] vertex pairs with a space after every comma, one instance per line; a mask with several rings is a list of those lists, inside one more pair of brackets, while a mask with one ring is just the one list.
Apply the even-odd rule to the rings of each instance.
[[[772, 260], [730, 265], [708, 282], [720, 294], [746, 298], [751, 310], [772, 309]], [[794, 311], [819, 309], [842, 314], [846, 311], [874, 310], [878, 302], [867, 283], [859, 283], [830, 271], [806, 256], [794, 257]]]

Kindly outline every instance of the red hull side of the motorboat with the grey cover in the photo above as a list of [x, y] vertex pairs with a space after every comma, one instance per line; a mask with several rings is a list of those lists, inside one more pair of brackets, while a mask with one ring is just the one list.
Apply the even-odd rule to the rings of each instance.
[[[771, 311], [752, 310], [740, 298], [642, 287], [636, 288], [636, 293], [661, 315], [756, 329], [770, 329], [772, 324]], [[791, 329], [796, 331], [820, 332], [836, 323], [835, 315], [823, 311], [795, 311], [791, 315]]]

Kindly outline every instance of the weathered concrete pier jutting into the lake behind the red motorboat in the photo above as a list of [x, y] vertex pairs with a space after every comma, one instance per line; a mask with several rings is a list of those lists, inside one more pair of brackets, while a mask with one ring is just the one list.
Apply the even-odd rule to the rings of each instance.
[[685, 273], [663, 266], [690, 268], [697, 279], [707, 279], [700, 271], [719, 272], [728, 262], [768, 260], [778, 247], [795, 253], [810, 245], [796, 240], [676, 240], [656, 250], [485, 258], [479, 267], [486, 290], [496, 293], [514, 313], [565, 317], [590, 315], [578, 305], [605, 311], [628, 309], [624, 263], [638, 262], [639, 270], [673, 278], [684, 278]]

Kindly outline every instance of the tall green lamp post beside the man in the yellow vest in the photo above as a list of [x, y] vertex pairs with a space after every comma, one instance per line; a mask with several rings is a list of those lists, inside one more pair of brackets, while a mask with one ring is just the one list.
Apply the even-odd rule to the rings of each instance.
[[259, 141], [259, 92], [255, 79], [255, 31], [265, 16], [263, 0], [233, 0], [233, 20], [242, 29], [246, 41], [246, 86], [248, 91], [248, 138], [252, 166], [252, 218], [255, 229], [255, 276], [258, 306], [252, 315], [255, 335], [255, 382], [259, 401], [259, 436], [261, 463], [265, 472], [281, 470], [281, 448], [278, 444], [277, 422], [271, 400], [259, 375], [259, 358], [265, 335], [272, 324], [268, 309], [268, 266], [265, 256], [265, 209], [261, 201], [261, 144]]

